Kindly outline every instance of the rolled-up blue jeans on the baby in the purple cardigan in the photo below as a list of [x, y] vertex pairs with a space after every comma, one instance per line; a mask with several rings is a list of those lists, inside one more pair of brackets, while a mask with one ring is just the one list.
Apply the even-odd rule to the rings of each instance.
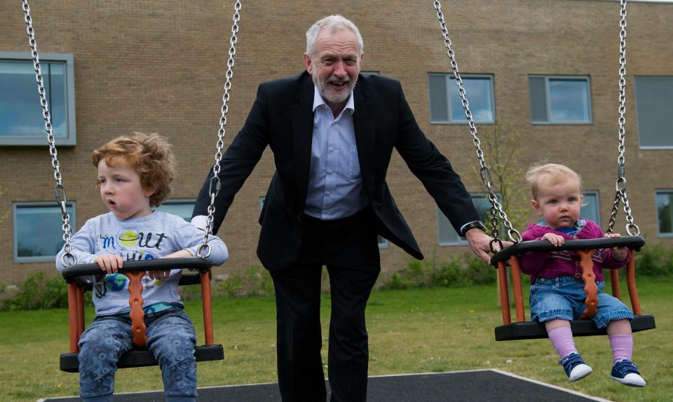
[[[598, 328], [605, 328], [613, 320], [633, 319], [629, 307], [618, 298], [602, 293], [605, 282], [596, 282], [596, 285], [598, 308], [592, 319]], [[587, 293], [581, 279], [571, 276], [538, 278], [531, 286], [531, 321], [572, 321], [584, 312], [586, 298]]]

